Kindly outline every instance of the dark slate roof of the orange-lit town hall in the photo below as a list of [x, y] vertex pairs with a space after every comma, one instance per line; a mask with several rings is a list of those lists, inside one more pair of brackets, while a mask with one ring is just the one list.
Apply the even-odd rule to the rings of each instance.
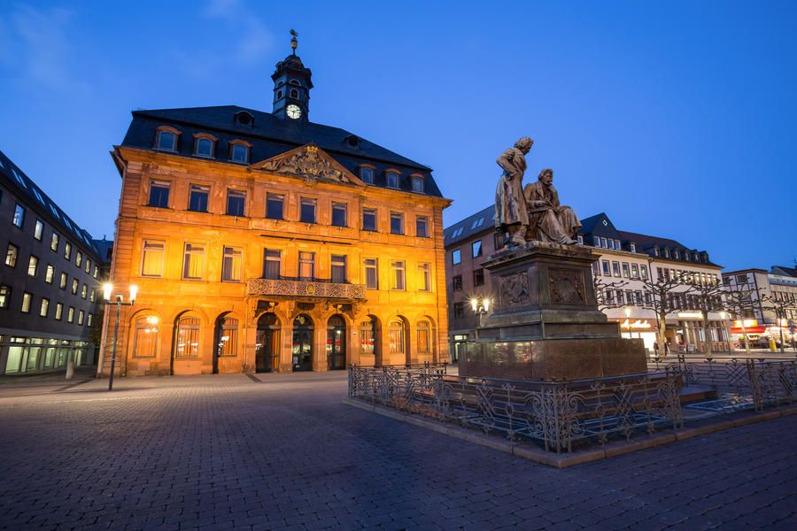
[[[254, 118], [253, 122], [249, 125], [236, 122], [234, 117], [239, 112], [248, 112]], [[177, 151], [184, 157], [192, 156], [193, 135], [197, 133], [208, 133], [219, 138], [215, 160], [229, 164], [237, 164], [228, 161], [228, 142], [231, 140], [245, 140], [252, 144], [251, 163], [275, 157], [298, 146], [314, 143], [355, 175], [359, 175], [358, 166], [374, 165], [375, 186], [384, 187], [385, 170], [394, 168], [401, 173], [400, 189], [412, 191], [409, 176], [412, 173], [420, 173], [425, 178], [424, 194], [442, 196], [431, 176], [431, 169], [426, 165], [402, 157], [338, 127], [313, 122], [304, 123], [302, 120], [280, 119], [269, 112], [244, 109], [236, 105], [134, 111], [133, 122], [122, 145], [152, 150], [155, 145], [156, 127], [164, 125], [174, 127], [181, 132]]]

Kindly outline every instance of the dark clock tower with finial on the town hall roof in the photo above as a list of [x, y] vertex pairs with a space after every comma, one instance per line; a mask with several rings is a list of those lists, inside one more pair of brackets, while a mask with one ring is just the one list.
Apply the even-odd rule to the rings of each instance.
[[280, 119], [306, 123], [310, 89], [313, 89], [313, 82], [310, 81], [312, 73], [296, 55], [297, 33], [291, 29], [290, 35], [293, 35], [290, 40], [293, 51], [290, 56], [277, 63], [274, 73], [271, 74], [271, 79], [274, 80], [274, 108], [271, 113]]

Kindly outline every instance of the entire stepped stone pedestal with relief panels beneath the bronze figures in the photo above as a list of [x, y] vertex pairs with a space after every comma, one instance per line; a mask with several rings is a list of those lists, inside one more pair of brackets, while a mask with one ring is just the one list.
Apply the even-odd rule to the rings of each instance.
[[503, 250], [491, 273], [494, 310], [460, 359], [461, 376], [578, 380], [645, 373], [641, 339], [622, 339], [598, 310], [592, 251], [530, 242]]

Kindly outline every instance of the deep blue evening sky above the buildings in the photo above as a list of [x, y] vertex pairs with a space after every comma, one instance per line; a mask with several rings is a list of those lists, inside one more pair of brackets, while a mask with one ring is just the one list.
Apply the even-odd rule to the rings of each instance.
[[794, 2], [36, 2], [0, 5], [0, 150], [112, 238], [108, 151], [135, 109], [271, 110], [275, 63], [313, 70], [310, 118], [434, 169], [445, 226], [491, 204], [535, 140], [563, 204], [708, 250], [797, 256]]

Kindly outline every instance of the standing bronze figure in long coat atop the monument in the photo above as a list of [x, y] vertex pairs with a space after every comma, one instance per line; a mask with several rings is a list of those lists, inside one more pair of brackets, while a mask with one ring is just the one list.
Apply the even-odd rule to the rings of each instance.
[[526, 171], [526, 153], [534, 141], [523, 136], [515, 147], [500, 154], [498, 165], [504, 170], [495, 189], [495, 228], [509, 235], [515, 245], [526, 242], [529, 212], [523, 197], [523, 173]]

